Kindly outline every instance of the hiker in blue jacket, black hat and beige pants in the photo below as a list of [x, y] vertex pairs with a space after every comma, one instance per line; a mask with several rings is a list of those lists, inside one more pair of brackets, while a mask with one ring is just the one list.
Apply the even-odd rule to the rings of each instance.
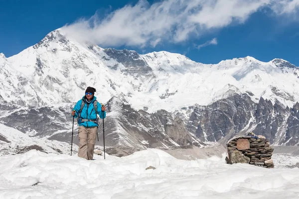
[[[106, 117], [106, 107], [101, 105], [94, 96], [95, 88], [87, 87], [85, 96], [77, 102], [71, 114], [77, 118], [79, 125], [79, 151], [78, 157], [87, 160], [93, 159], [94, 147], [98, 131], [98, 117]], [[96, 102], [95, 102], [96, 101]], [[83, 106], [84, 105], [84, 106]], [[82, 107], [83, 106], [83, 107]], [[82, 108], [81, 108], [82, 107]], [[99, 108], [101, 107], [101, 109]], [[80, 109], [82, 109], [80, 111]], [[96, 112], [97, 111], [97, 112]]]

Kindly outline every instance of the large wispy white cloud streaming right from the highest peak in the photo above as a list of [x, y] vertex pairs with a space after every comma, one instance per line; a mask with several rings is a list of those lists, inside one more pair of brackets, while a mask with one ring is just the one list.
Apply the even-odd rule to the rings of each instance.
[[190, 38], [244, 23], [252, 13], [268, 7], [275, 14], [296, 12], [299, 0], [163, 0], [149, 4], [140, 0], [107, 16], [95, 14], [62, 30], [80, 42], [100, 46], [156, 46], [179, 43]]

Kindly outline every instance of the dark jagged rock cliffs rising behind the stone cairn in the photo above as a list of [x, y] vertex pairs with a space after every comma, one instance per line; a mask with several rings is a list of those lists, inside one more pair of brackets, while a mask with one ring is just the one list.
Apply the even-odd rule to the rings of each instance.
[[[260, 98], [255, 103], [245, 94], [235, 94], [208, 106], [195, 106], [186, 127], [202, 141], [226, 143], [233, 136], [253, 129], [254, 133], [267, 137], [272, 143], [294, 146], [299, 143], [298, 109], [299, 103], [289, 108], [278, 100], [273, 104]], [[280, 136], [284, 128], [287, 129], [285, 137]], [[251, 138], [251, 142], [256, 140]], [[258, 140], [265, 141], [264, 138]]]

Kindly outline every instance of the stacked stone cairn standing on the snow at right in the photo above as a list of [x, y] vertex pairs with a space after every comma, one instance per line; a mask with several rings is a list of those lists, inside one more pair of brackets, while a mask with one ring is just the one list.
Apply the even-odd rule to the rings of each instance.
[[232, 138], [227, 143], [228, 164], [249, 163], [259, 167], [274, 168], [272, 157], [273, 147], [270, 142], [262, 135], [253, 138], [243, 136]]

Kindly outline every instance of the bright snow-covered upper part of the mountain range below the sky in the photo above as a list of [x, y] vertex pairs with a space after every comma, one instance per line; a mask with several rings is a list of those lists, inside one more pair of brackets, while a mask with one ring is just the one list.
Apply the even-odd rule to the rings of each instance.
[[[278, 99], [292, 107], [299, 100], [299, 78], [296, 72], [276, 67], [289, 64], [281, 59], [261, 62], [250, 56], [202, 64], [166, 51], [140, 55], [78, 43], [56, 29], [0, 64], [10, 78], [1, 79], [7, 86], [0, 95], [8, 102], [39, 106], [73, 102], [82, 97], [87, 86], [93, 86], [103, 90], [102, 102], [123, 95], [132, 107], [148, 106], [148, 111], [154, 112], [161, 107], [174, 111], [195, 103], [207, 105], [233, 93], [250, 92], [254, 101], [260, 97]], [[7, 91], [13, 91], [14, 97]]]

